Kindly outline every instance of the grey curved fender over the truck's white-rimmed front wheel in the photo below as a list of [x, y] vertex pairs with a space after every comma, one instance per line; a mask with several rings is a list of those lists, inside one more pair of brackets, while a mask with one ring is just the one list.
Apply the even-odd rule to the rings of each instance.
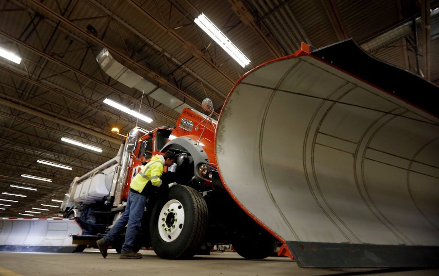
[[160, 150], [164, 152], [169, 149], [172, 145], [179, 145], [186, 149], [194, 159], [194, 176], [198, 181], [204, 182], [205, 179], [198, 175], [198, 166], [202, 163], [209, 164], [209, 157], [205, 153], [201, 145], [197, 141], [188, 137], [177, 137], [167, 142], [166, 145]]

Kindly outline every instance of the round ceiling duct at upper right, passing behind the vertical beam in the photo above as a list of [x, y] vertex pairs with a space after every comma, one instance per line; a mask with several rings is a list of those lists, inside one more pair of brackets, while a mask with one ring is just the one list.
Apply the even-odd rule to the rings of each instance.
[[[430, 14], [431, 20], [431, 40], [434, 40], [439, 37], [439, 9], [435, 9]], [[416, 18], [416, 29], [421, 29], [421, 17]], [[360, 44], [360, 47], [363, 48], [364, 51], [371, 52], [379, 47], [382, 47], [386, 44], [389, 44], [393, 41], [399, 40], [405, 36], [413, 33], [413, 21], [407, 21], [389, 29], [378, 36], [374, 36], [372, 39], [367, 40], [364, 43]]]

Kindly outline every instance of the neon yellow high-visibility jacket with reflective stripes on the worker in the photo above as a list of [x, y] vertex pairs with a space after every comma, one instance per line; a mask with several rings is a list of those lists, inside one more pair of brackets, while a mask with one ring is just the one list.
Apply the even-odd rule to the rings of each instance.
[[148, 181], [151, 181], [152, 185], [160, 187], [160, 185], [162, 185], [162, 179], [160, 179], [160, 177], [163, 174], [164, 165], [165, 158], [163, 158], [163, 156], [159, 154], [152, 156], [151, 161], [133, 178], [130, 188], [141, 193]]

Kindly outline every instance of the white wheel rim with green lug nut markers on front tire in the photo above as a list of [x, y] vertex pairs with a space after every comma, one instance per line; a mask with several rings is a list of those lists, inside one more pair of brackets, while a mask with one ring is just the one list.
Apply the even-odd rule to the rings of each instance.
[[183, 205], [178, 200], [169, 200], [158, 216], [158, 233], [160, 237], [166, 242], [172, 242], [180, 236], [183, 227]]

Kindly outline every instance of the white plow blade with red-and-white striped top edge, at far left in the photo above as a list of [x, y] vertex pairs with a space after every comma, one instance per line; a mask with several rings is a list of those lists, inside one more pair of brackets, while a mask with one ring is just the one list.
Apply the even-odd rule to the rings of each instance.
[[0, 218], [0, 251], [72, 253], [82, 232], [72, 218]]

